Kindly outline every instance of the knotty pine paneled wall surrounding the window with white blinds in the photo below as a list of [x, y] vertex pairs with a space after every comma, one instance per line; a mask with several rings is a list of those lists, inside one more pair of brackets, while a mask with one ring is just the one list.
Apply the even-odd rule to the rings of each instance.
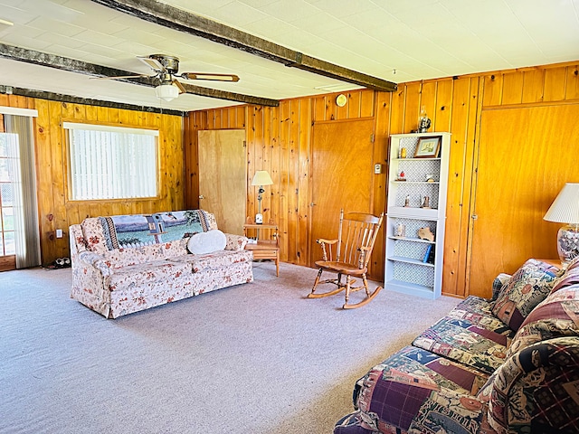
[[[0, 105], [37, 109], [34, 141], [43, 264], [68, 257], [68, 228], [85, 217], [184, 208], [183, 118], [127, 109], [0, 95]], [[66, 133], [62, 122], [86, 122], [159, 130], [159, 196], [150, 200], [70, 201]], [[62, 229], [62, 239], [55, 231]]]

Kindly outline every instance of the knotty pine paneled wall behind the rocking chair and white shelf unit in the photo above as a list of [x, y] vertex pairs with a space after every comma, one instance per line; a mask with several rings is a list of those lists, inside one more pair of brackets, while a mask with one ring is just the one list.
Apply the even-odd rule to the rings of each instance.
[[[348, 103], [343, 108], [338, 108], [335, 103], [337, 94], [330, 94], [283, 100], [275, 109], [242, 106], [193, 112], [185, 121], [185, 203], [190, 206], [197, 204], [196, 131], [245, 127], [248, 174], [252, 175], [255, 170], [268, 170], [274, 181], [263, 206], [266, 219], [280, 222], [281, 259], [311, 266], [308, 263], [308, 159], [312, 125], [317, 121], [375, 118], [375, 163], [387, 165], [389, 135], [409, 133], [415, 129], [423, 106], [432, 118], [431, 131], [452, 133], [442, 292], [465, 297], [469, 294], [469, 267], [473, 260], [469, 250], [470, 207], [476, 189], [480, 114], [482, 110], [496, 106], [579, 104], [578, 68], [579, 62], [570, 62], [401, 83], [393, 93], [356, 90], [345, 92]], [[564, 132], [561, 134], [562, 140], [568, 139]], [[346, 145], [337, 143], [336, 146]], [[528, 170], [536, 168], [529, 167]], [[556, 167], [551, 170], [556, 170]], [[251, 185], [251, 179], [248, 181]], [[374, 189], [371, 209], [375, 213], [384, 211], [386, 183], [384, 173], [376, 175], [374, 186], [368, 186]], [[255, 212], [255, 197], [256, 192], [250, 186], [248, 215]], [[377, 249], [380, 257], [373, 259], [376, 264], [384, 262], [384, 246], [380, 247]], [[489, 248], [492, 248], [491, 237]], [[372, 277], [380, 280], [383, 272], [383, 267], [378, 265]]]

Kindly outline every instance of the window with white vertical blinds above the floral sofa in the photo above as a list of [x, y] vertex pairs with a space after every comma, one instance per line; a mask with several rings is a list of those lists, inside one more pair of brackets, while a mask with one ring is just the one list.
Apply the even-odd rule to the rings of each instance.
[[158, 131], [64, 123], [71, 200], [157, 196]]

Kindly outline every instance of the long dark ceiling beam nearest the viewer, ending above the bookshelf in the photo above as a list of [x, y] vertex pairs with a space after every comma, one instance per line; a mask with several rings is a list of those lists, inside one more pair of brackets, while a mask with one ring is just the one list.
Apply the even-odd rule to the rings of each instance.
[[242, 32], [225, 24], [216, 23], [203, 16], [191, 14], [157, 0], [92, 0], [119, 12], [136, 16], [151, 23], [190, 33], [195, 36], [222, 43], [244, 52], [250, 52], [270, 61], [278, 61], [292, 68], [299, 68], [335, 80], [346, 81], [373, 90], [392, 92], [396, 83], [379, 79], [362, 72], [349, 70], [328, 61], [310, 57]]

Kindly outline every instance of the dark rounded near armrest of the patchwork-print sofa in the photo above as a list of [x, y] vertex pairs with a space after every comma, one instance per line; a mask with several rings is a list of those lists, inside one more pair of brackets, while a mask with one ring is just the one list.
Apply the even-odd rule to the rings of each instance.
[[557, 337], [513, 354], [480, 390], [498, 433], [579, 432], [579, 337]]

